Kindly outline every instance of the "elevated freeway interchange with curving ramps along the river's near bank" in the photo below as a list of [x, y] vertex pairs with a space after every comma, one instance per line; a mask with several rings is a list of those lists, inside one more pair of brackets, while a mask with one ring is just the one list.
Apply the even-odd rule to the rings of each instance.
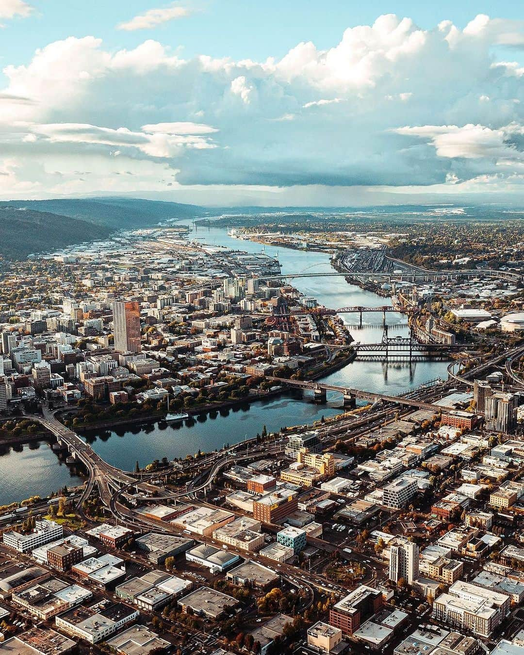
[[[476, 376], [486, 373], [493, 367], [504, 365], [507, 369], [509, 365], [511, 368], [511, 362], [522, 354], [524, 354], [524, 346], [506, 350], [503, 354], [479, 362], [479, 364], [460, 375], [451, 375], [448, 381], [411, 390], [402, 396], [386, 396], [364, 390], [321, 385], [325, 390], [333, 389], [344, 394], [352, 394], [370, 404], [359, 408], [358, 413], [348, 413], [342, 415], [337, 421], [321, 424], [318, 427], [319, 438], [325, 447], [329, 447], [339, 439], [353, 438], [373, 431], [378, 426], [383, 426], [393, 416], [403, 417], [403, 415], [413, 411], [413, 408], [431, 409], [436, 413], [441, 410], [441, 407], [435, 403], [449, 394], [451, 388], [458, 385], [471, 386], [472, 380]], [[281, 384], [289, 384], [287, 380], [278, 381]], [[513, 381], [516, 384], [515, 379]], [[319, 386], [318, 383], [314, 382], [296, 384], [296, 386], [304, 388], [315, 388], [315, 385]], [[260, 458], [279, 457], [283, 453], [285, 443], [287, 443], [286, 438], [281, 434], [276, 434], [270, 436], [268, 440], [262, 441], [262, 443], [257, 443], [256, 440], [242, 441], [221, 451], [209, 453], [197, 460], [188, 460], [183, 464], [173, 463], [151, 474], [144, 472], [134, 474], [119, 470], [105, 462], [78, 434], [60, 423], [47, 407], [43, 408], [43, 417], [34, 415], [31, 416], [31, 419], [39, 421], [45, 428], [50, 430], [56, 439], [66, 445], [70, 453], [85, 465], [88, 474], [87, 482], [81, 495], [75, 499], [77, 510], [81, 515], [83, 515], [83, 503], [97, 487], [100, 500], [108, 508], [117, 523], [135, 531], [157, 531], [176, 536], [183, 536], [180, 533], [180, 528], [171, 523], [144, 516], [132, 504], [136, 504], [137, 501], [145, 502], [148, 498], [153, 502], [169, 502], [182, 499], [188, 500], [194, 506], [216, 508], [217, 505], [210, 502], [205, 493], [212, 488], [214, 479], [224, 468], [232, 464], [250, 462]], [[163, 490], [162, 485], [157, 483], [176, 471], [177, 466], [181, 467], [183, 472], [192, 473], [192, 479], [183, 489], [172, 491], [164, 488]], [[235, 510], [234, 513], [239, 517], [243, 515], [238, 510]], [[263, 528], [266, 533], [275, 533], [281, 529], [281, 526], [265, 523]], [[199, 534], [197, 538], [209, 545], [216, 543], [211, 536]], [[333, 553], [337, 552], [342, 559], [359, 563], [363, 567], [363, 583], [374, 585], [380, 582], [380, 575], [383, 576], [384, 574], [378, 567], [380, 562], [378, 560], [374, 561], [370, 555], [355, 550], [352, 539], [346, 538], [342, 543], [336, 545], [324, 538], [313, 536], [308, 536], [307, 540], [310, 546], [324, 553], [325, 561], [329, 561]], [[352, 545], [351, 554], [346, 553], [344, 550], [346, 545]], [[229, 547], [229, 550], [235, 555], [243, 557], [246, 555], [244, 551], [232, 546]], [[318, 595], [333, 595], [334, 598], [340, 599], [347, 593], [344, 586], [329, 582], [321, 571], [304, 571], [287, 563], [276, 564], [272, 559], [258, 553], [249, 553], [249, 556], [254, 561], [258, 561], [275, 571], [289, 585], [296, 588], [297, 593], [300, 594], [302, 612], [312, 605]]]

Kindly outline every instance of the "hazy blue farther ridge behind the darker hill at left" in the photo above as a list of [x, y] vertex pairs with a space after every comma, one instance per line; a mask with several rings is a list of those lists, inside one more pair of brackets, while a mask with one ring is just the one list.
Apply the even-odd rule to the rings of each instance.
[[51, 212], [110, 227], [113, 230], [148, 227], [167, 219], [211, 215], [197, 205], [139, 198], [57, 198], [55, 200], [10, 200], [6, 206]]

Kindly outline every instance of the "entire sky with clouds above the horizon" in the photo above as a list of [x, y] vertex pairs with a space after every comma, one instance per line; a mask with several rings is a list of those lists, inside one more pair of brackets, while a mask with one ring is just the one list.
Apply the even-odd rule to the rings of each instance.
[[524, 203], [521, 2], [0, 0], [0, 198]]

